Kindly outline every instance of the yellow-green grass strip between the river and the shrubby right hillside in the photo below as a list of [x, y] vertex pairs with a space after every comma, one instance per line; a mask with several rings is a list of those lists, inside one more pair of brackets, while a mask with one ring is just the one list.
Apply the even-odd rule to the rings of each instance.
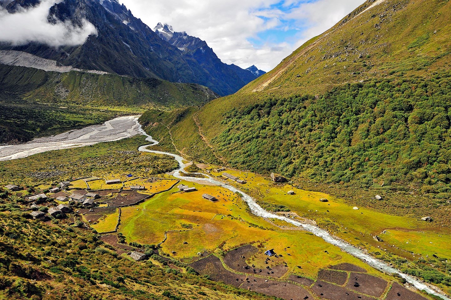
[[[440, 241], [451, 241], [451, 233], [445, 228], [434, 227], [433, 224], [408, 217], [383, 214], [377, 211], [359, 208], [354, 210], [353, 206], [345, 204], [341, 199], [318, 192], [310, 192], [295, 188], [290, 184], [276, 184], [260, 175], [247, 172], [237, 172], [227, 170], [229, 174], [240, 176], [247, 180], [247, 184], [233, 183], [236, 187], [249, 193], [258, 201], [268, 205], [283, 205], [294, 211], [301, 217], [312, 219], [332, 234], [341, 237], [355, 246], [363, 246], [369, 252], [384, 253], [384, 249], [389, 249], [392, 253], [412, 258], [410, 251], [421, 253], [421, 247], [406, 244], [407, 238], [398, 234], [398, 238], [393, 238], [390, 242], [377, 242], [374, 236], [380, 236], [382, 232], [392, 229], [412, 232], [421, 232], [417, 239], [427, 237], [440, 237]], [[230, 180], [229, 180], [230, 181]], [[295, 195], [288, 195], [287, 192], [293, 190]], [[325, 198], [328, 202], [319, 201]], [[382, 237], [382, 236], [381, 236]], [[383, 240], [386, 240], [382, 237]], [[427, 242], [429, 244], [429, 242]], [[444, 248], [436, 251], [450, 252], [450, 247], [446, 247], [446, 242], [437, 242]], [[430, 244], [429, 244], [430, 245]], [[450, 244], [448, 244], [450, 245]], [[433, 251], [426, 251], [431, 253]], [[451, 253], [451, 252], [450, 252]]]

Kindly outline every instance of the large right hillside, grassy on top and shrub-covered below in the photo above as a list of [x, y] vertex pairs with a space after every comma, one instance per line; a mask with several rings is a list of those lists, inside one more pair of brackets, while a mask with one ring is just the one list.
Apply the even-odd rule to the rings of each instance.
[[433, 193], [447, 205], [451, 3], [385, 0], [364, 11], [373, 2], [202, 107], [213, 151], [241, 170]]

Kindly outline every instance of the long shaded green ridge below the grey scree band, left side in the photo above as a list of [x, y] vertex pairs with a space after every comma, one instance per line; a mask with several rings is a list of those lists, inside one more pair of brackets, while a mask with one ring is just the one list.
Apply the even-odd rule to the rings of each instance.
[[45, 72], [6, 65], [0, 65], [0, 86], [1, 91], [46, 103], [170, 108], [201, 105], [216, 98], [211, 90], [196, 84], [75, 71]]

